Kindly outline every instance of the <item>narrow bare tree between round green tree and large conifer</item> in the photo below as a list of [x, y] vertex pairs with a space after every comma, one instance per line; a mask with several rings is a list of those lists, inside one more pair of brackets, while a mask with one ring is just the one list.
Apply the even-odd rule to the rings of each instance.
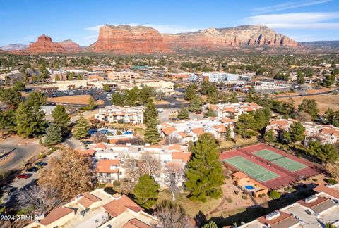
[[167, 163], [165, 166], [165, 185], [172, 191], [172, 199], [175, 201], [175, 194], [180, 191], [179, 183], [182, 182], [184, 169], [177, 163]]

